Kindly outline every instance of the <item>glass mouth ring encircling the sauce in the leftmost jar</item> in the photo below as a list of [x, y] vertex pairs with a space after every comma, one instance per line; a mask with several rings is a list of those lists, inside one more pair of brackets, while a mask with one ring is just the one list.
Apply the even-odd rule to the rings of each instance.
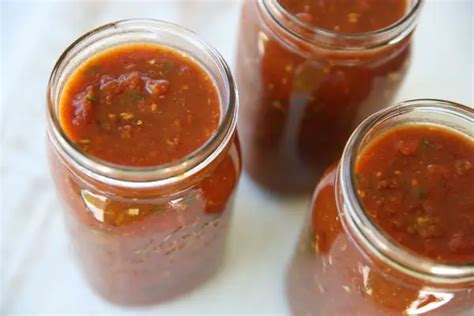
[[[61, 128], [58, 106], [62, 91], [72, 73], [94, 54], [131, 43], [152, 43], [179, 51], [198, 63], [209, 74], [216, 87], [221, 110], [217, 131], [204, 145], [178, 161], [152, 167], [114, 165], [81, 153]], [[203, 163], [209, 163], [226, 146], [235, 130], [237, 119], [235, 84], [230, 69], [220, 54], [191, 31], [171, 23], [147, 19], [124, 20], [107, 24], [72, 43], [59, 58], [51, 74], [48, 101], [53, 138], [57, 138], [57, 143], [63, 147], [64, 151], [88, 170], [108, 178], [126, 181], [175, 181], [170, 178], [180, 176]]]

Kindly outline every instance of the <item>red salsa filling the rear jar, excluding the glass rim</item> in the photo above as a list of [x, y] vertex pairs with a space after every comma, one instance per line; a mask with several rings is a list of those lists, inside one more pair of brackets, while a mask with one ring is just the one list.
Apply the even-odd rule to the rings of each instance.
[[303, 40], [308, 34], [292, 29], [293, 21], [266, 9], [275, 1], [247, 1], [242, 10], [239, 130], [252, 178], [271, 191], [300, 194], [338, 159], [357, 124], [390, 104], [408, 69], [411, 32], [370, 49], [352, 49], [342, 32], [388, 27], [407, 14], [408, 2], [278, 1], [292, 16], [336, 31], [327, 40], [341, 49]]

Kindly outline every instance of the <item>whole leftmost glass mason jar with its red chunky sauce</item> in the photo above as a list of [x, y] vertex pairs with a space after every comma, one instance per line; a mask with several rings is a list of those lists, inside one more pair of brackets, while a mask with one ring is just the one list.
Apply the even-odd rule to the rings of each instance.
[[151, 304], [207, 280], [223, 255], [241, 170], [238, 101], [220, 54], [156, 20], [95, 29], [48, 86], [48, 153], [87, 280]]

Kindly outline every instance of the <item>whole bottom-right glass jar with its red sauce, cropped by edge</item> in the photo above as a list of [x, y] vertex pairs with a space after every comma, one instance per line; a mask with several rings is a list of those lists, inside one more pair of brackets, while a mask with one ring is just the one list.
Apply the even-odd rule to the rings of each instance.
[[290, 264], [296, 315], [472, 312], [473, 126], [472, 108], [413, 100], [354, 131]]

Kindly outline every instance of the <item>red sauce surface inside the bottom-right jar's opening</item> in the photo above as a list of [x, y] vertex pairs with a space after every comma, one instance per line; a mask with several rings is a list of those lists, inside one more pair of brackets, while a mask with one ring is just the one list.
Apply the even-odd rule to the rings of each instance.
[[356, 162], [369, 217], [400, 245], [443, 263], [474, 262], [474, 142], [423, 125], [390, 130]]

